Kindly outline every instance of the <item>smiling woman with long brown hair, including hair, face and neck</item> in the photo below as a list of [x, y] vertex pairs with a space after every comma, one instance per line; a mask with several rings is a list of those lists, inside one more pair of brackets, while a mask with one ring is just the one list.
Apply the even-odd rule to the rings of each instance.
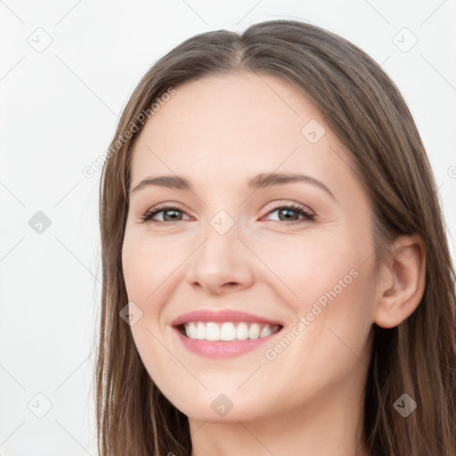
[[108, 455], [454, 456], [454, 269], [402, 96], [272, 20], [191, 37], [101, 183]]

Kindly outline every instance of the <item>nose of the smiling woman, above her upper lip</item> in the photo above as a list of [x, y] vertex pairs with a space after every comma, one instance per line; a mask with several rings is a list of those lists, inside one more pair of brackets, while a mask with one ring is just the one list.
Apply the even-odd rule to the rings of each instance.
[[191, 256], [187, 281], [211, 295], [246, 289], [254, 281], [252, 252], [238, 238], [236, 224], [221, 234], [208, 227], [206, 239]]

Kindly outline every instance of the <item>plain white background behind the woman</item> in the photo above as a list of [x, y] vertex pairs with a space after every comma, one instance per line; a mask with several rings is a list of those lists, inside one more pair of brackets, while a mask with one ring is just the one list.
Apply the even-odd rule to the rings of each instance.
[[[100, 172], [82, 170], [106, 152], [142, 75], [187, 37], [300, 19], [369, 53], [419, 127], [455, 257], [454, 0], [4, 0], [0, 14], [1, 455], [96, 454]], [[396, 42], [411, 44], [411, 35], [396, 37], [403, 28], [418, 39], [408, 52]], [[37, 211], [51, 220], [41, 234], [28, 224]], [[43, 418], [32, 412], [45, 411], [37, 394], [52, 403]]]

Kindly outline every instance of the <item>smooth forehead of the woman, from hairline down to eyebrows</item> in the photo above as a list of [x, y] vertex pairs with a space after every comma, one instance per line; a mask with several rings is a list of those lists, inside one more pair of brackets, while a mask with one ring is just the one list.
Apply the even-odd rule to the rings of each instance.
[[316, 107], [280, 77], [210, 76], [175, 87], [142, 127], [132, 181], [149, 172], [201, 176], [215, 184], [274, 170], [331, 177], [349, 171], [340, 169], [343, 149]]

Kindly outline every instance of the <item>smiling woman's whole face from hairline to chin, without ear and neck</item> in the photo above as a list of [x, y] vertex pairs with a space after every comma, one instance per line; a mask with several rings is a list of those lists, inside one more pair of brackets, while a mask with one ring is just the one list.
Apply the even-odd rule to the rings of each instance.
[[[136, 189], [158, 176], [169, 180]], [[369, 201], [346, 150], [280, 78], [179, 85], [143, 126], [122, 250], [131, 330], [151, 379], [190, 418], [358, 406], [374, 258]]]

